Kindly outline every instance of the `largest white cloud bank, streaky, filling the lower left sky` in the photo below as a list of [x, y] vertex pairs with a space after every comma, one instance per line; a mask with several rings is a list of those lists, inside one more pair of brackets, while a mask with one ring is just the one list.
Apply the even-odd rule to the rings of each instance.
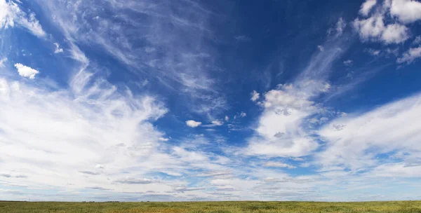
[[166, 109], [152, 97], [120, 94], [105, 81], [93, 81], [83, 95], [1, 82], [0, 164], [4, 172], [27, 175], [16, 184], [116, 188], [102, 172], [119, 177], [137, 159], [166, 159], [156, 151], [162, 134], [149, 123]]

